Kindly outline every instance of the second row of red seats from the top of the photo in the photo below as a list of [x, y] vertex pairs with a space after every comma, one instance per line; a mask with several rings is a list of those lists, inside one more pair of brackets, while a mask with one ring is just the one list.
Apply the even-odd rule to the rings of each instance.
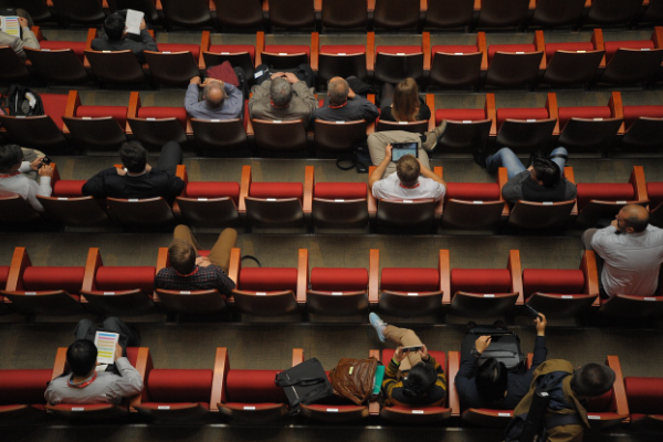
[[[429, 32], [420, 45], [377, 45], [375, 34], [366, 34], [366, 44], [319, 44], [317, 32], [311, 44], [265, 44], [257, 32], [256, 43], [210, 44], [203, 31], [200, 44], [159, 43], [158, 52], [146, 51], [147, 63], [140, 65], [131, 51], [93, 51], [91, 42], [97, 31], [91, 29], [86, 42], [46, 41], [34, 29], [41, 50], [25, 49], [28, 61], [11, 50], [0, 51], [6, 66], [0, 80], [80, 84], [96, 81], [102, 85], [182, 86], [207, 66], [230, 61], [253, 78], [255, 66], [265, 63], [274, 69], [309, 64], [324, 87], [334, 76], [355, 75], [364, 81], [398, 83], [412, 77], [422, 87], [573, 86], [635, 84], [661, 80], [663, 70], [663, 28], [656, 27], [650, 40], [603, 41], [594, 29], [590, 41], [546, 43], [544, 31], [536, 31], [529, 44], [492, 44], [478, 32], [475, 44], [434, 44]], [[632, 70], [639, 65], [638, 70]]]

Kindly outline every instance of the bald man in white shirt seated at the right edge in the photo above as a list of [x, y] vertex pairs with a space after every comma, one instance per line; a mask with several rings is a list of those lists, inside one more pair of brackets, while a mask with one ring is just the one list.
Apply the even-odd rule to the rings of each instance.
[[588, 229], [582, 243], [602, 259], [602, 296], [655, 294], [663, 262], [663, 230], [650, 225], [649, 212], [642, 206], [624, 206], [609, 227]]

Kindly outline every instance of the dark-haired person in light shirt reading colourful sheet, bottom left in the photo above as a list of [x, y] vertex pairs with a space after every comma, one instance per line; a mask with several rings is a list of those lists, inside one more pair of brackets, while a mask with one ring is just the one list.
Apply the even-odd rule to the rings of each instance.
[[[97, 370], [96, 330], [119, 334], [115, 347], [115, 364]], [[101, 328], [88, 319], [78, 323], [74, 330], [76, 341], [66, 350], [66, 364], [71, 372], [53, 379], [44, 398], [51, 406], [59, 403], [119, 403], [124, 398], [143, 391], [140, 373], [126, 358], [127, 346], [140, 345], [136, 334], [122, 320], [109, 317]]]

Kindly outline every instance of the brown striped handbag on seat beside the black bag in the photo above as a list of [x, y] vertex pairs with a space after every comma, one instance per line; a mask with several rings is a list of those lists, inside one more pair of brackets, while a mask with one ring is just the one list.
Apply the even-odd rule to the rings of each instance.
[[360, 406], [370, 397], [378, 360], [343, 358], [329, 372], [334, 394], [341, 396]]

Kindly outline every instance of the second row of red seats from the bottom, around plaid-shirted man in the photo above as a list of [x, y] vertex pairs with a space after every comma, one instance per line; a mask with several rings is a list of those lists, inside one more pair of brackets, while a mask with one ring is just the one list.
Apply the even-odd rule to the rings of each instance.
[[[207, 256], [209, 251], [199, 251]], [[159, 249], [155, 266], [107, 266], [98, 249], [90, 249], [83, 266], [34, 266], [24, 248], [14, 250], [10, 266], [0, 267], [4, 287], [0, 307], [25, 315], [141, 315], [167, 312], [213, 315], [229, 312], [240, 320], [276, 317], [297, 322], [365, 323], [368, 311], [407, 322], [439, 323], [443, 315], [495, 317], [513, 315], [524, 304], [550, 318], [599, 313], [618, 318], [661, 318], [663, 294], [598, 296], [594, 253], [587, 251], [578, 270], [526, 269], [512, 250], [504, 269], [456, 269], [449, 250], [440, 250], [433, 267], [383, 267], [380, 251], [369, 251], [367, 267], [313, 267], [299, 249], [296, 267], [243, 267], [233, 249], [231, 295], [217, 290], [155, 290], [155, 274], [169, 265], [168, 249]], [[662, 285], [660, 285], [662, 286]]]

